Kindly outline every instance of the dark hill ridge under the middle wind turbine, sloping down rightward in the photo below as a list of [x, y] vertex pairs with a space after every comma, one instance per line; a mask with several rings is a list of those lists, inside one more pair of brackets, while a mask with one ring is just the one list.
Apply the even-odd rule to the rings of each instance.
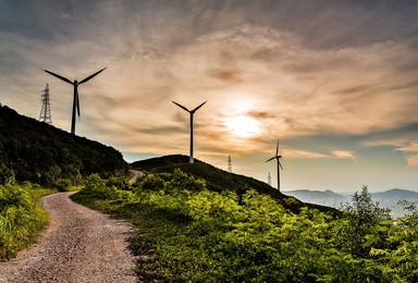
[[315, 204], [305, 204], [294, 197], [283, 195], [275, 188], [256, 179], [220, 170], [198, 159], [195, 159], [195, 163], [190, 164], [187, 156], [173, 155], [151, 158], [133, 162], [131, 163], [131, 167], [151, 173], [172, 173], [179, 168], [183, 172], [204, 179], [208, 189], [213, 192], [222, 192], [226, 189], [236, 192], [237, 195], [243, 195], [249, 188], [254, 188], [260, 194], [271, 196], [293, 211], [298, 211], [302, 207], [308, 206], [322, 211], [337, 212], [333, 208]]

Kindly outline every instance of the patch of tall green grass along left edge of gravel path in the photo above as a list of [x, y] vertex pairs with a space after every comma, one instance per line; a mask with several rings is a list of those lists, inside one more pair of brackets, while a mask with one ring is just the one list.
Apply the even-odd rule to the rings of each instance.
[[0, 261], [28, 247], [48, 223], [39, 198], [54, 190], [25, 182], [21, 186], [0, 185]]

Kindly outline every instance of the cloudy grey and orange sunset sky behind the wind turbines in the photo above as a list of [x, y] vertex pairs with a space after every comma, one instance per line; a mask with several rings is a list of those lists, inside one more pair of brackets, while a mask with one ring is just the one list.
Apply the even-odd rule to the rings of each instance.
[[418, 1], [0, 0], [0, 102], [128, 162], [188, 155], [282, 190], [418, 190]]

